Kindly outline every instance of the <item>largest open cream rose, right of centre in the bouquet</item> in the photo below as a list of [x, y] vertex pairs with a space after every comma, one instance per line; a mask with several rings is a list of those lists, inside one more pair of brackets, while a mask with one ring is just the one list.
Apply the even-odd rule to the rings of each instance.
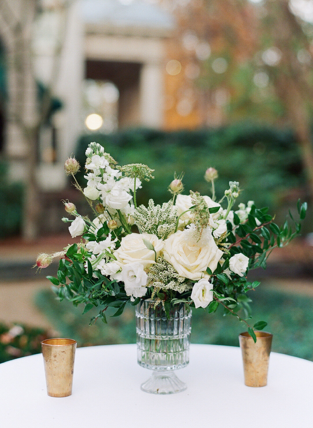
[[189, 229], [178, 230], [164, 241], [164, 259], [179, 275], [195, 281], [201, 279], [208, 267], [212, 272], [216, 269], [223, 252], [215, 244], [211, 229], [207, 229], [198, 242]]

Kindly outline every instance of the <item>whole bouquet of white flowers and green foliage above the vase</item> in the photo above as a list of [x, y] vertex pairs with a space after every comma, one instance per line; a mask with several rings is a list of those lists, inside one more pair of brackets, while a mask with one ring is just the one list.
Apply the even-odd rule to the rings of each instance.
[[[266, 259], [275, 247], [283, 247], [299, 234], [307, 204], [298, 201], [298, 222], [290, 213], [279, 227], [268, 208], [256, 208], [253, 201], [234, 204], [241, 194], [237, 181], [231, 181], [222, 198], [216, 202], [214, 168], [205, 172], [212, 196], [201, 196], [190, 190], [183, 194], [183, 176], [170, 183], [170, 200], [155, 205], [137, 205], [136, 191], [143, 181], [153, 178], [153, 170], [143, 164], [117, 166], [102, 146], [91, 143], [86, 150], [87, 186], [76, 181], [79, 163], [75, 158], [65, 162], [65, 172], [85, 195], [92, 217], [81, 216], [75, 205], [64, 201], [65, 210], [74, 217], [70, 223], [72, 238], [82, 236], [79, 244], [69, 245], [55, 254], [40, 254], [36, 265], [47, 267], [59, 257], [57, 277], [47, 276], [60, 300], [75, 305], [85, 303], [84, 313], [99, 306], [92, 318], [106, 321], [105, 310], [123, 312], [127, 302], [136, 305], [141, 299], [170, 307], [185, 304], [206, 308], [208, 313], [219, 305], [225, 314], [236, 316], [254, 330], [266, 322], [249, 325], [251, 302], [247, 293], [260, 283], [247, 280], [247, 272], [266, 268]], [[92, 220], [91, 220], [92, 218]], [[239, 315], [241, 314], [241, 315]]]

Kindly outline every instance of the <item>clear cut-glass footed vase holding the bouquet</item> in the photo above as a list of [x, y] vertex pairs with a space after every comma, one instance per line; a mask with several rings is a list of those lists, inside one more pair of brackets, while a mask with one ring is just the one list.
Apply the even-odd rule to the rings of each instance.
[[136, 306], [138, 364], [153, 370], [141, 385], [151, 394], [174, 394], [187, 386], [175, 375], [189, 363], [191, 309], [184, 303], [170, 308], [167, 318], [162, 304], [141, 300]]

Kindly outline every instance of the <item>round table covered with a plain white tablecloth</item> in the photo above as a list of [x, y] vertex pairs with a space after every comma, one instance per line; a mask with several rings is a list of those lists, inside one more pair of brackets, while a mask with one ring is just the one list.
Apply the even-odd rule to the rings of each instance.
[[268, 385], [243, 383], [239, 348], [191, 345], [176, 372], [187, 390], [140, 390], [151, 372], [137, 365], [136, 345], [79, 348], [73, 393], [46, 392], [42, 355], [0, 364], [1, 428], [312, 428], [313, 363], [272, 353]]

